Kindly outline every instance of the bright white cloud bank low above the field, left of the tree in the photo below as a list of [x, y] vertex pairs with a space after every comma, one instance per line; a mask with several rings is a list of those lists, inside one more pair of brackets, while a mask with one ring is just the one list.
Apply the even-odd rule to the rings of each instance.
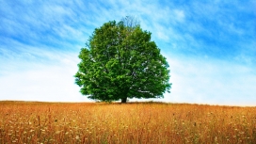
[[0, 100], [88, 102], [74, 84], [78, 62], [77, 56], [65, 55], [50, 64], [19, 61], [9, 72], [0, 74]]

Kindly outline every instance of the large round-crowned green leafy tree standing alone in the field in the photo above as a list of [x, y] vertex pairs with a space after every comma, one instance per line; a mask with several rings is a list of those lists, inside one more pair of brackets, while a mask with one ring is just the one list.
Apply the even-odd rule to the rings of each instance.
[[[126, 19], [131, 23], [131, 18]], [[166, 58], [150, 32], [128, 21], [110, 21], [96, 28], [81, 49], [74, 77], [89, 99], [126, 103], [127, 98], [162, 98], [169, 92]]]

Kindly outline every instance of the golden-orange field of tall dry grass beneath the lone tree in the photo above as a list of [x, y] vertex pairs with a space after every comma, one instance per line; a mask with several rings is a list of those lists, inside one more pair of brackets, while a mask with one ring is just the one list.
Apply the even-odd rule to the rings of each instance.
[[256, 107], [0, 102], [0, 143], [256, 143]]

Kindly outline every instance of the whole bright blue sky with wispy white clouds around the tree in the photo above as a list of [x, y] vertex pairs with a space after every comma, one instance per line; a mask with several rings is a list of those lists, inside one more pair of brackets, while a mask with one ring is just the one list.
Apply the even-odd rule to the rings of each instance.
[[256, 1], [0, 0], [0, 100], [88, 102], [74, 84], [93, 30], [135, 16], [169, 63], [157, 101], [256, 105]]

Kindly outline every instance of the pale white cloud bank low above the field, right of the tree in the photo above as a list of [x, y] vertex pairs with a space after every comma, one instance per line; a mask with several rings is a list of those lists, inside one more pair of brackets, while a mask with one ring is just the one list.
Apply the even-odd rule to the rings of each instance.
[[256, 75], [250, 67], [216, 59], [167, 57], [173, 86], [163, 101], [256, 105]]

